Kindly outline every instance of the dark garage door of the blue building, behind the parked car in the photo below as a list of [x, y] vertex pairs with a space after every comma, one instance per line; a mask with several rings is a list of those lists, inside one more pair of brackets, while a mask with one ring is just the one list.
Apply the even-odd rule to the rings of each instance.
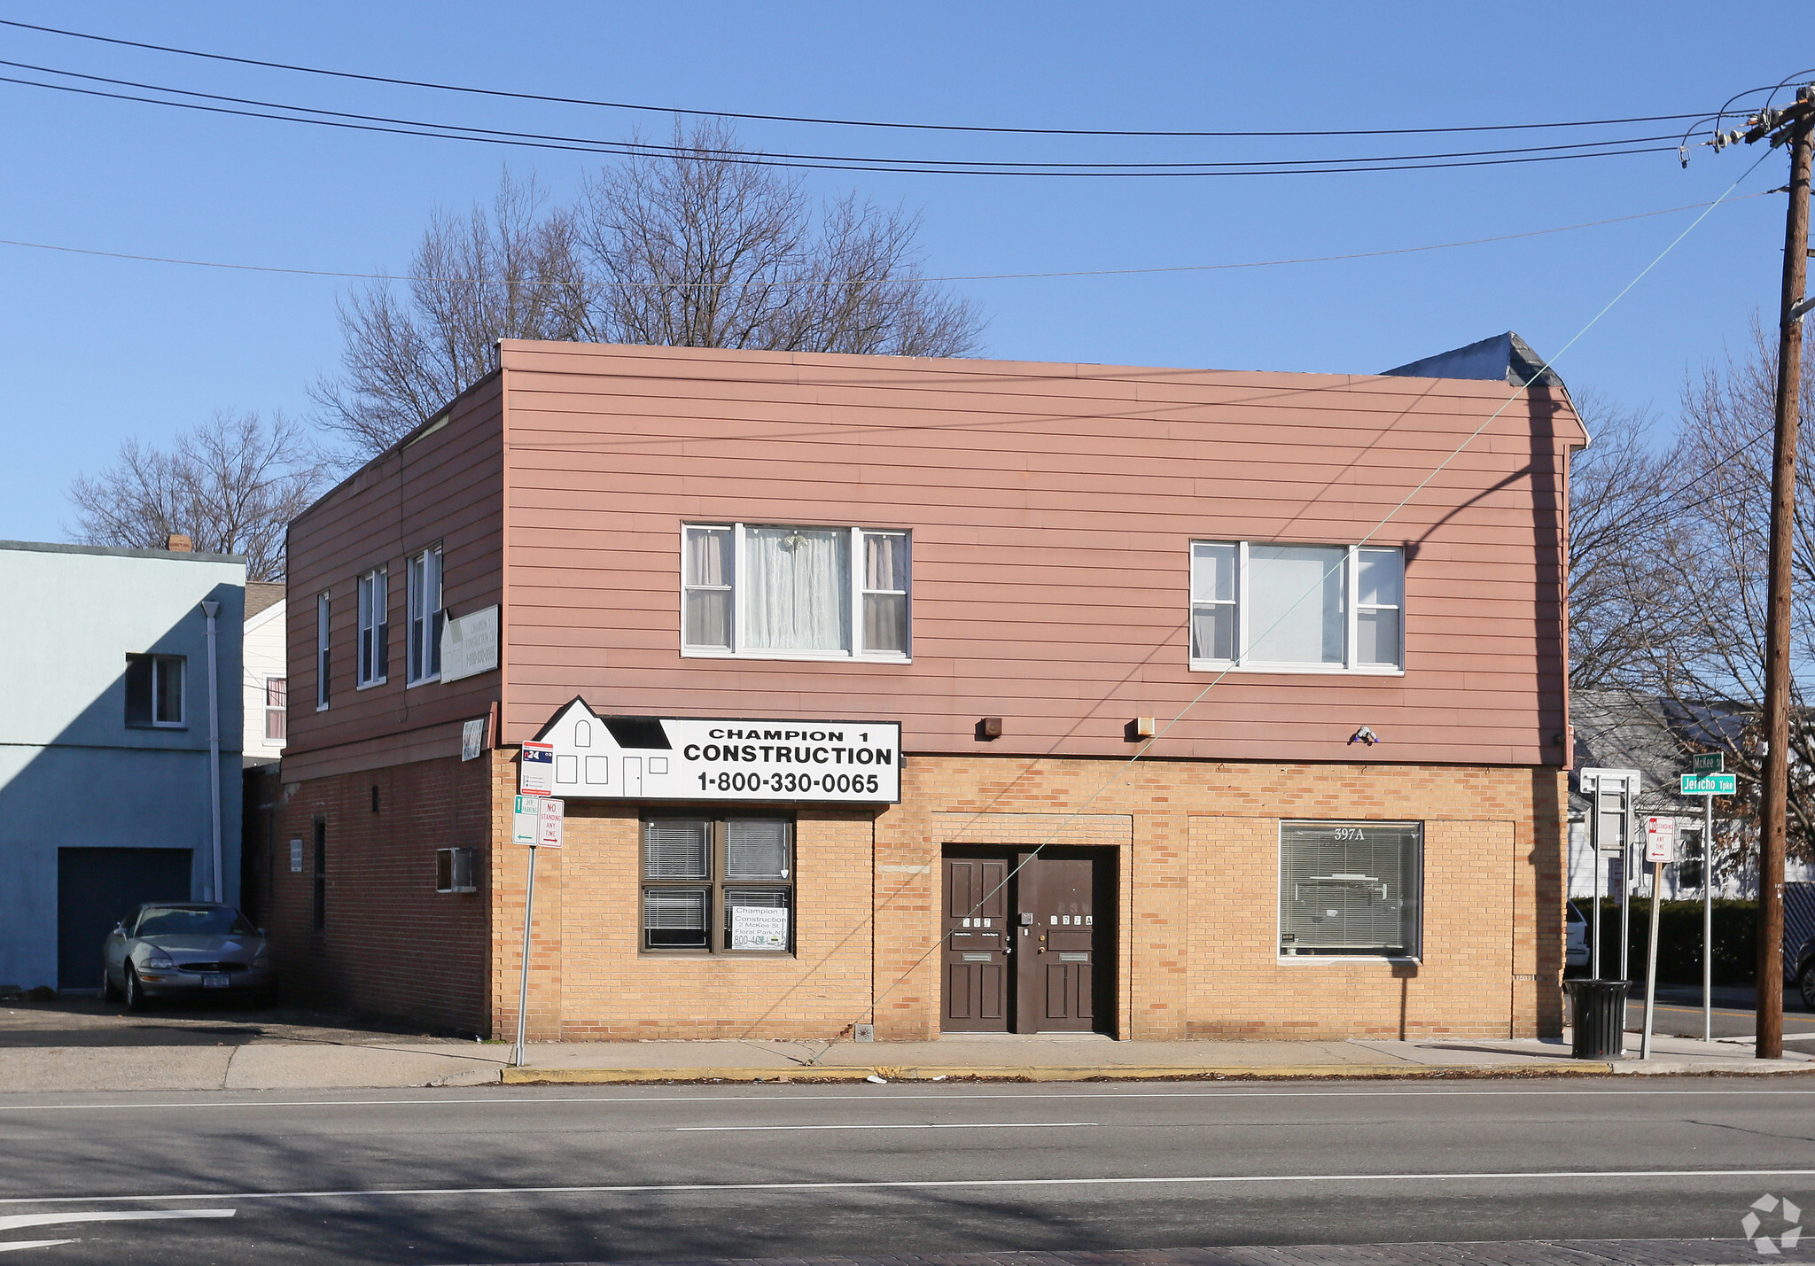
[[56, 987], [100, 988], [102, 941], [142, 901], [187, 901], [192, 849], [56, 851]]

